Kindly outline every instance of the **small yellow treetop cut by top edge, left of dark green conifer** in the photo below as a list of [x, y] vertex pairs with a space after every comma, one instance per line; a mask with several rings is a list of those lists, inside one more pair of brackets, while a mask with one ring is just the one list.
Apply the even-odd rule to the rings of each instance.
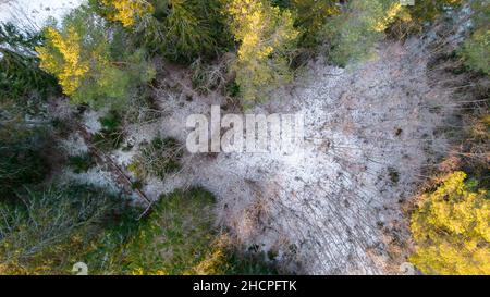
[[154, 13], [155, 9], [145, 0], [101, 0], [110, 12], [107, 17], [121, 22], [124, 27], [132, 27], [145, 15]]

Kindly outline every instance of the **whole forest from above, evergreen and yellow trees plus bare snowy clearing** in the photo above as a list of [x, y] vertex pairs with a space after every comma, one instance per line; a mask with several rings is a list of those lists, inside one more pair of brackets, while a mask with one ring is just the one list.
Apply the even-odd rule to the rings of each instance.
[[[0, 274], [490, 275], [490, 3], [409, 2], [0, 18]], [[193, 154], [211, 106], [307, 148]]]

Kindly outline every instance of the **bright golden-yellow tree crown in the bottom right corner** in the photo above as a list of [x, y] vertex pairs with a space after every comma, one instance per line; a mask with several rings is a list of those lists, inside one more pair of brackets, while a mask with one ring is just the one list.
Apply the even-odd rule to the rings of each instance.
[[421, 197], [412, 214], [415, 253], [411, 261], [427, 274], [490, 274], [490, 200], [454, 172]]

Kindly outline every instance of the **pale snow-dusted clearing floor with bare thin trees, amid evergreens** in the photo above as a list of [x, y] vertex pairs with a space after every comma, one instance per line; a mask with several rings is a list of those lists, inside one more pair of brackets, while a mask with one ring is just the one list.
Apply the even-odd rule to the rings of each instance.
[[[311, 62], [294, 84], [247, 111], [303, 113], [303, 149], [289, 154], [186, 152], [177, 173], [145, 181], [143, 193], [155, 200], [175, 188], [205, 187], [218, 199], [217, 225], [286, 271], [396, 273], [411, 249], [404, 205], [446, 152], [440, 128], [453, 113], [450, 91], [428, 78], [427, 63], [416, 39], [382, 44], [377, 59], [347, 69]], [[192, 91], [184, 72], [171, 72], [174, 79], [162, 77], [152, 95], [162, 115], [126, 126], [125, 143], [134, 147], [111, 152], [121, 168], [156, 136], [185, 144], [187, 116], [209, 116], [211, 104], [221, 104], [222, 114], [241, 113], [220, 95]], [[84, 115], [87, 131], [100, 129], [102, 113]], [[81, 138], [72, 135], [68, 150], [86, 149]], [[118, 188], [100, 166], [68, 175]]]

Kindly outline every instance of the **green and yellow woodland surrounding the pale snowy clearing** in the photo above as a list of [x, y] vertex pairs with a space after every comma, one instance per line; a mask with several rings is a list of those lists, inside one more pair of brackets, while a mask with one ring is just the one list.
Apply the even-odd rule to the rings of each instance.
[[[451, 47], [442, 34], [431, 45], [434, 69], [465, 77], [448, 87], [466, 103], [462, 125], [450, 128], [451, 153], [426, 170], [405, 206], [406, 261], [424, 274], [490, 274], [490, 3], [415, 2], [90, 0], [41, 32], [1, 24], [0, 274], [71, 274], [79, 261], [90, 274], [301, 273], [217, 224], [206, 188], [148, 203], [142, 184], [179, 171], [185, 149], [158, 137], [121, 169], [107, 156], [125, 149], [124, 125], [159, 116], [152, 89], [174, 69], [192, 82], [180, 88], [246, 111], [319, 57], [355, 67], [373, 59], [379, 42], [422, 39], [437, 28], [453, 36], [461, 26]], [[465, 25], [448, 29], [462, 11]], [[49, 108], [60, 100], [74, 109], [70, 121]], [[105, 111], [94, 135], [81, 124], [88, 111]], [[59, 144], [74, 131], [88, 151], [70, 156]], [[120, 191], [61, 176], [101, 163], [119, 172]]]

